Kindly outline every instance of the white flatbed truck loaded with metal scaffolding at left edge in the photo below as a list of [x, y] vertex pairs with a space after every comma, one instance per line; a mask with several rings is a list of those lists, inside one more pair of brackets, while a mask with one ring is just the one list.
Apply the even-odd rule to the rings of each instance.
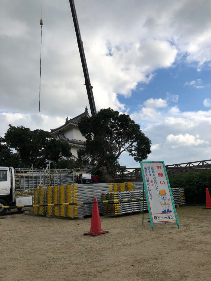
[[[34, 188], [73, 183], [76, 183], [74, 170], [0, 167], [0, 207], [32, 205]], [[7, 210], [10, 208], [0, 208], [0, 216]]]

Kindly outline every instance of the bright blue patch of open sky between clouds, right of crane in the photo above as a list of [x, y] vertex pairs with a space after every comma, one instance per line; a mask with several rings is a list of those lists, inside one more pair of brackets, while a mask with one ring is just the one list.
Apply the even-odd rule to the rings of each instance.
[[[207, 67], [208, 68], [208, 67]], [[142, 104], [147, 98], [165, 99], [167, 93], [178, 95], [178, 107], [182, 111], [203, 110], [203, 100], [210, 96], [210, 67], [198, 72], [196, 68], [185, 64], [176, 64], [174, 67], [156, 70], [149, 84], [139, 83], [132, 91], [132, 98], [119, 96], [119, 101], [125, 103], [132, 112], [137, 110], [137, 104]], [[200, 79], [200, 80], [199, 80]], [[195, 84], [189, 85], [191, 81]], [[196, 88], [196, 86], [203, 88]]]

